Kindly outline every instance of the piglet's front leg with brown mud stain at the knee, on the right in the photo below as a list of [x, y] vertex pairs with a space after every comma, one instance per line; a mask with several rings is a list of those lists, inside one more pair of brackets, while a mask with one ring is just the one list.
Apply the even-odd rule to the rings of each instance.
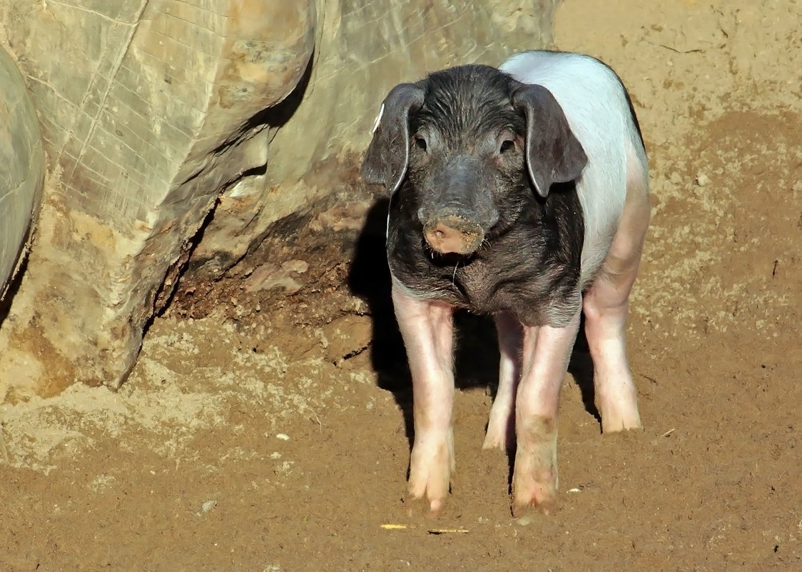
[[557, 493], [557, 407], [580, 312], [566, 327], [525, 327], [523, 371], [516, 396], [512, 513], [530, 505], [550, 513]]

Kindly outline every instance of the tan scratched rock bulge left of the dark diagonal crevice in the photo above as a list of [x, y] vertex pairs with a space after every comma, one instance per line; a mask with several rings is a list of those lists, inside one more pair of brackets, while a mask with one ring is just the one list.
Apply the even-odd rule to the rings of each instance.
[[0, 8], [54, 173], [0, 331], [0, 390], [125, 378], [217, 195], [265, 164], [251, 118], [301, 78], [314, 17], [303, 2]]

